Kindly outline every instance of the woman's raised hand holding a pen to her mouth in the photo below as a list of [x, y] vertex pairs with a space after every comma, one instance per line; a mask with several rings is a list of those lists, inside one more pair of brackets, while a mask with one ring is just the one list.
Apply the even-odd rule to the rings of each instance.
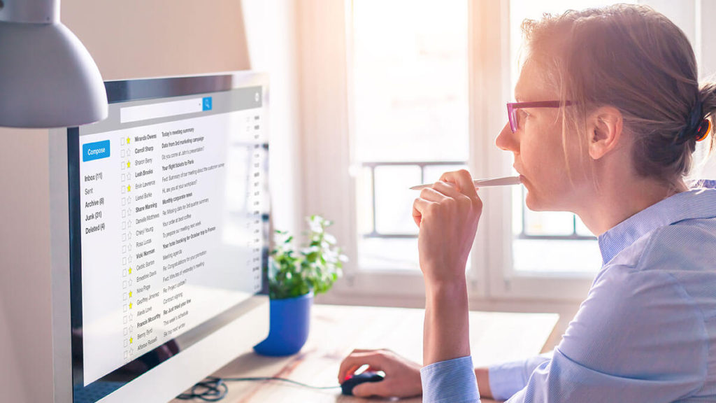
[[475, 240], [483, 202], [468, 171], [446, 172], [422, 189], [412, 206], [425, 285], [465, 281], [465, 263]]

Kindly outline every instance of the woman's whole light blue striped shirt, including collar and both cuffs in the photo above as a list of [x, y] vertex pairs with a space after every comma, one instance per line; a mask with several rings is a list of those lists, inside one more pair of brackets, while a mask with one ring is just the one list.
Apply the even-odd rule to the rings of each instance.
[[[553, 356], [491, 367], [495, 399], [716, 402], [713, 188], [702, 181], [601, 234], [604, 266]], [[472, 366], [425, 366], [423, 402], [479, 402]]]

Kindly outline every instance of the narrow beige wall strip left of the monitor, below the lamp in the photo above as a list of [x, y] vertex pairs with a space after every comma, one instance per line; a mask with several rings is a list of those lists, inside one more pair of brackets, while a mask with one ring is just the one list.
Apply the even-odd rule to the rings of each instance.
[[28, 281], [49, 278], [47, 131], [5, 129], [0, 144], [0, 390], [7, 402], [49, 402], [33, 387], [33, 376], [52, 380], [49, 281]]

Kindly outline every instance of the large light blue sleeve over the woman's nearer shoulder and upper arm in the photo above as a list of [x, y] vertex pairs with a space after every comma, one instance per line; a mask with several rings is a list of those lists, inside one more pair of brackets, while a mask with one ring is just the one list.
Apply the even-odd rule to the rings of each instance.
[[552, 359], [509, 403], [674, 402], [702, 388], [701, 311], [669, 273], [623, 268], [600, 273]]

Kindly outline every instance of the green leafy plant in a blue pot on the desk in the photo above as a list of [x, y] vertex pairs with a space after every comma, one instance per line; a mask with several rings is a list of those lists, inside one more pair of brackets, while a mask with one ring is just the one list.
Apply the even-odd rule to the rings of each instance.
[[253, 346], [266, 356], [295, 354], [306, 343], [314, 294], [325, 293], [342, 275], [347, 257], [326, 232], [332, 222], [321, 216], [306, 217], [309, 245], [294, 246], [288, 232], [276, 231], [269, 259], [270, 330]]

